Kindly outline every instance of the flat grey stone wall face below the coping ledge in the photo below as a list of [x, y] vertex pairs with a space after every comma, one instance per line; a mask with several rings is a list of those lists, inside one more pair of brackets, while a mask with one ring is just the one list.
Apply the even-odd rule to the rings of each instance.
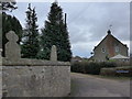
[[70, 92], [69, 66], [3, 66], [3, 96], [64, 97]]

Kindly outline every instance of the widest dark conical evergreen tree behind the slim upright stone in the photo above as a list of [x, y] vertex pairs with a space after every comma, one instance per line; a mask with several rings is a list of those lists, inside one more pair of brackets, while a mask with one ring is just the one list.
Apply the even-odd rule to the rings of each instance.
[[63, 10], [53, 2], [45, 21], [45, 29], [42, 29], [40, 58], [50, 59], [52, 45], [57, 46], [58, 61], [69, 62], [72, 58], [70, 43], [67, 26], [63, 19]]

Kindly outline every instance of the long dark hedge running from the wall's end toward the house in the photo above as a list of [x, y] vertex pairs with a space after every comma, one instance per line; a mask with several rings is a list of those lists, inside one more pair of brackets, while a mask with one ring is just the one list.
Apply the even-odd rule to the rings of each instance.
[[114, 63], [89, 63], [89, 62], [76, 62], [72, 63], [72, 72], [99, 75], [101, 68], [116, 67]]

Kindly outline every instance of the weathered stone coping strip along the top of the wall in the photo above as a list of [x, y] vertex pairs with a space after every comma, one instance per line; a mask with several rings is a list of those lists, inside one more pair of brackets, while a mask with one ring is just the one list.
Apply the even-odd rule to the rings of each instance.
[[42, 59], [28, 59], [18, 58], [11, 61], [9, 58], [2, 57], [2, 64], [0, 66], [70, 66], [69, 62], [57, 62], [57, 61], [42, 61]]

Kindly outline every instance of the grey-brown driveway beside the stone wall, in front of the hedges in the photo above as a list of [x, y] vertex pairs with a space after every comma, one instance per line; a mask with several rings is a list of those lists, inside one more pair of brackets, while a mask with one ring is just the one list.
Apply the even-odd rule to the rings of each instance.
[[130, 80], [72, 73], [70, 97], [130, 97]]

